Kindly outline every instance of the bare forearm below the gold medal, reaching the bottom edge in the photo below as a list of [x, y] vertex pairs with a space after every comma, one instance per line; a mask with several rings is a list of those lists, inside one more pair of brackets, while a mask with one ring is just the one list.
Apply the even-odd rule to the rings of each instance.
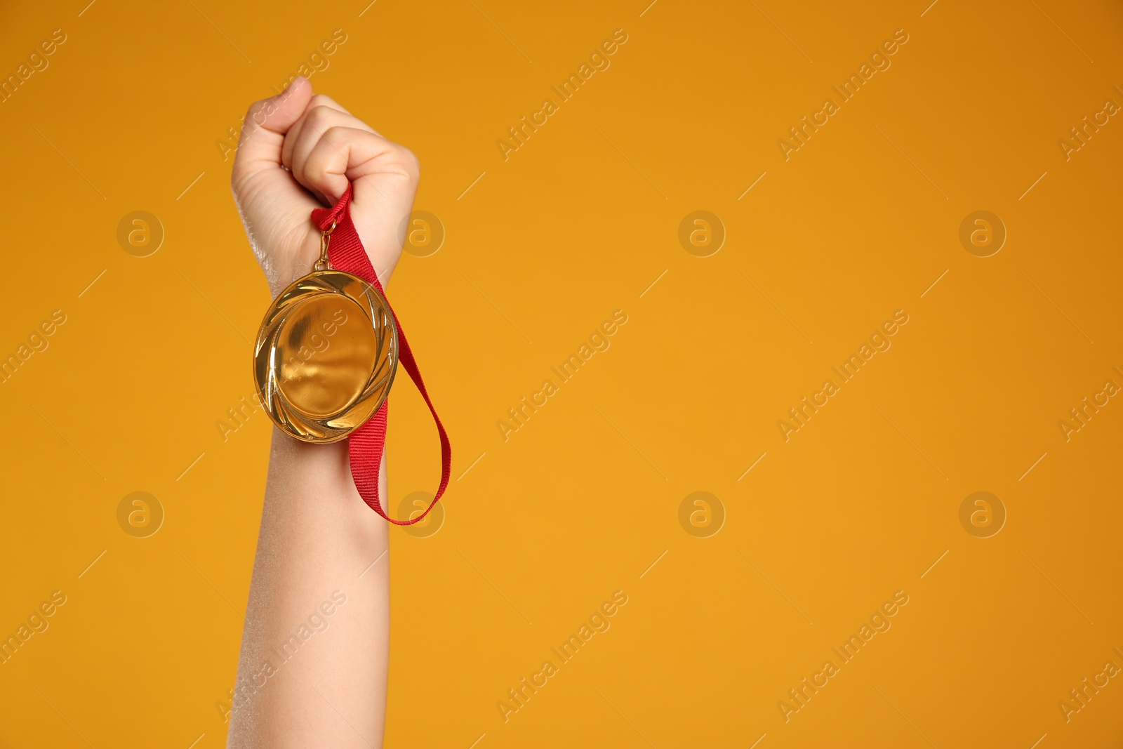
[[[385, 460], [381, 475], [385, 496]], [[387, 529], [355, 488], [346, 441], [274, 429], [229, 747], [382, 746]]]

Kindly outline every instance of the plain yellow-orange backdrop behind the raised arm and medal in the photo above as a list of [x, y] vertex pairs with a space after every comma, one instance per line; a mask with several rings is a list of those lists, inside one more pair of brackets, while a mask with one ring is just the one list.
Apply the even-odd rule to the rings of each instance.
[[[84, 4], [0, 10], [4, 76], [67, 35], [0, 104], [0, 351], [67, 316], [0, 385], [0, 633], [67, 596], [0, 666], [0, 745], [223, 746], [270, 423], [223, 442], [216, 421], [250, 394], [270, 298], [216, 141], [337, 28], [313, 86], [419, 155], [416, 207], [447, 231], [390, 287], [455, 459], [439, 532], [392, 531], [387, 746], [1123, 740], [1119, 677], [1058, 709], [1123, 666], [1123, 404], [1058, 428], [1123, 385], [1123, 124], [1058, 147], [1123, 104], [1117, 6]], [[611, 67], [504, 161], [618, 28]], [[785, 162], [777, 139], [898, 28], [892, 67]], [[134, 210], [166, 232], [152, 256], [118, 245]], [[710, 257], [677, 238], [695, 210], [728, 234]], [[992, 257], [959, 243], [976, 210], [1008, 232]], [[503, 441], [618, 309], [611, 348]], [[892, 348], [785, 442], [777, 420], [898, 309]], [[405, 382], [392, 508], [438, 475]], [[134, 491], [164, 508], [149, 538], [118, 526]], [[725, 511], [710, 538], [678, 521], [695, 491]], [[992, 538], [960, 526], [975, 491], [1008, 513]], [[495, 703], [618, 590], [611, 629], [504, 723]], [[892, 629], [785, 723], [895, 591]]]

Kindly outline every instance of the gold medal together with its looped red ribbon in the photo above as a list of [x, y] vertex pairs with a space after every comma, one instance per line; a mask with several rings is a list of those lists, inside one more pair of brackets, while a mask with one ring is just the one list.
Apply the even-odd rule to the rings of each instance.
[[[254, 345], [254, 384], [265, 412], [286, 435], [305, 442], [348, 439], [359, 495], [390, 522], [411, 526], [445, 493], [451, 447], [351, 222], [350, 200], [348, 186], [332, 208], [312, 211], [320, 258], [266, 311]], [[387, 517], [378, 499], [386, 399], [399, 360], [432, 413], [441, 453], [440, 486], [424, 512], [408, 520]]]

